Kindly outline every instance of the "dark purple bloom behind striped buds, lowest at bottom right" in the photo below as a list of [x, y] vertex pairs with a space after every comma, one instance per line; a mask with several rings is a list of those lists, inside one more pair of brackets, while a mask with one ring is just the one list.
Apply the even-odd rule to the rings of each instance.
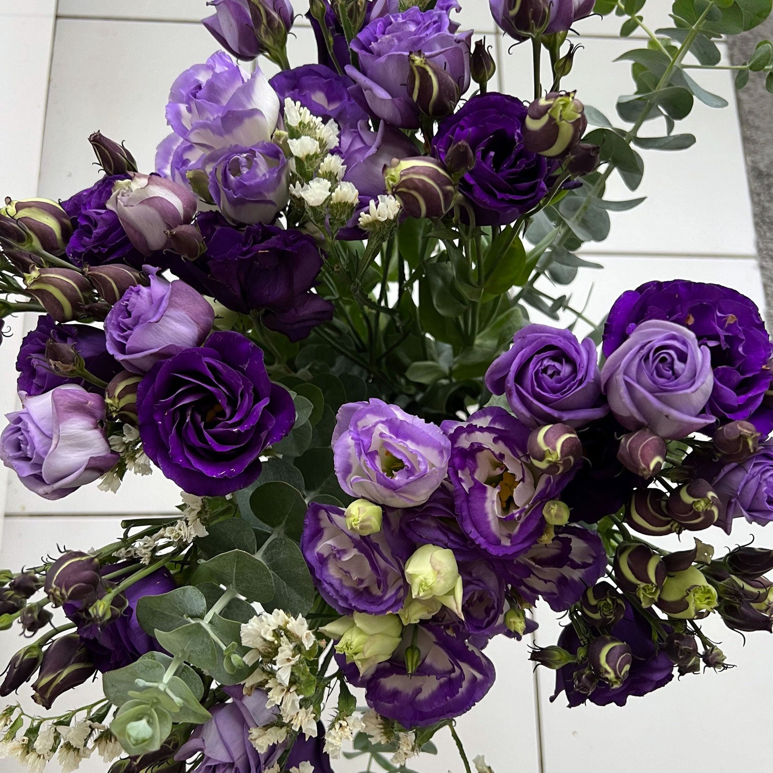
[[[642, 615], [638, 615], [627, 602], [625, 615], [620, 622], [612, 626], [611, 635], [631, 648], [633, 660], [628, 678], [619, 687], [611, 687], [600, 681], [590, 695], [585, 695], [574, 689], [573, 676], [577, 665], [570, 663], [556, 672], [556, 691], [550, 698], [551, 701], [566, 692], [570, 707], [580, 706], [588, 700], [597, 706], [607, 706], [609, 703], [625, 706], [629, 697], [652, 693], [652, 690], [658, 690], [673, 679], [674, 664], [662, 649], [662, 643], [658, 646], [652, 641], [649, 622]], [[579, 649], [580, 639], [571, 625], [567, 625], [561, 632], [558, 645], [573, 654]]]

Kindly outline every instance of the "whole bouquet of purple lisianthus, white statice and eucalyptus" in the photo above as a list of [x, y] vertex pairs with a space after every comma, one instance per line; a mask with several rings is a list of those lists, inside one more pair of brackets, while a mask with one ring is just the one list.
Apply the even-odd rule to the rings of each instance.
[[[614, 172], [638, 187], [636, 147], [693, 144], [693, 97], [725, 103], [687, 70], [770, 2], [676, 0], [652, 32], [644, 0], [598, 0], [647, 38], [626, 128], [561, 90], [593, 2], [492, 0], [533, 49], [528, 104], [488, 90], [455, 0], [312, 0], [318, 63], [295, 68], [286, 0], [210, 5], [231, 55], [280, 72], [214, 53], [172, 84], [156, 172], [97, 132], [94, 186], [0, 212], [0, 310], [39, 313], [0, 458], [46, 499], [154, 470], [182, 489], [174, 518], [2, 573], [0, 626], [32, 641], [0, 695], [66, 710], [9, 703], [0, 754], [327, 773], [346, 745], [408, 771], [444, 730], [485, 773], [455, 720], [495, 636], [570, 706], [726, 669], [702, 618], [773, 627], [773, 551], [710, 545], [773, 514], [760, 313], [651, 281], [595, 325], [538, 283], [593, 265], [577, 250], [641, 200], [604, 199]], [[734, 69], [773, 90], [773, 46]], [[557, 645], [527, 649], [548, 610]]]

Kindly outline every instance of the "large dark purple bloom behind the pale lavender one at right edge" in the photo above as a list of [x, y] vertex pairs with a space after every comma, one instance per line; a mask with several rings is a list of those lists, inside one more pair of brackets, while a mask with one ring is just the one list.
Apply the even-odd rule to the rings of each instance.
[[771, 414], [761, 403], [771, 384], [773, 346], [753, 301], [720, 284], [647, 282], [623, 293], [612, 306], [604, 325], [604, 356], [611, 356], [648, 319], [683, 325], [700, 346], [709, 348], [714, 378], [710, 414], [720, 421], [751, 421], [768, 435]]

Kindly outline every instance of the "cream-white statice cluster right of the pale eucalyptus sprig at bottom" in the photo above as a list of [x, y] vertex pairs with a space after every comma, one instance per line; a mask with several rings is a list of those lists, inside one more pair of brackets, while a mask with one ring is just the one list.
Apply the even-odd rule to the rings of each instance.
[[[261, 754], [272, 744], [284, 741], [290, 730], [312, 738], [317, 734], [317, 716], [305, 694], [298, 691], [309, 675], [305, 660], [317, 652], [317, 639], [305, 618], [290, 617], [281, 609], [256, 615], [241, 627], [241, 642], [250, 652], [247, 666], [257, 665], [244, 681], [250, 693], [261, 686], [268, 695], [266, 707], [278, 707], [274, 724], [250, 729], [250, 742]], [[301, 771], [302, 773], [302, 771]]]

